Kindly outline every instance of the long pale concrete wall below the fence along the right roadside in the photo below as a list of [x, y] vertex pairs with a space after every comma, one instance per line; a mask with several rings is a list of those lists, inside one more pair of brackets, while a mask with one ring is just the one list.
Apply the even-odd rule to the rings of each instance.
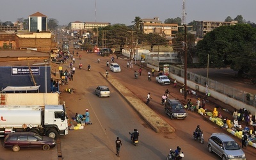
[[[184, 83], [184, 78], [179, 77], [175, 74], [170, 74], [170, 77], [172, 79], [177, 79], [177, 82], [179, 83]], [[193, 83], [192, 81], [187, 81], [187, 86], [189, 88], [191, 88], [192, 90], [194, 90], [195, 92], [202, 92], [205, 93], [205, 86], [201, 86], [199, 84]], [[230, 97], [228, 97], [227, 95], [223, 95], [219, 92], [216, 92], [214, 90], [208, 89], [208, 92], [211, 93], [211, 97], [214, 97], [215, 99], [220, 100], [221, 102], [224, 102], [225, 104], [228, 104], [230, 106], [232, 106], [233, 108], [236, 108], [237, 110], [240, 108], [245, 108], [248, 111], [250, 111], [253, 115], [256, 114], [256, 108], [254, 108], [253, 106], [244, 104], [243, 102], [239, 101], [239, 100], [235, 100], [232, 99]]]

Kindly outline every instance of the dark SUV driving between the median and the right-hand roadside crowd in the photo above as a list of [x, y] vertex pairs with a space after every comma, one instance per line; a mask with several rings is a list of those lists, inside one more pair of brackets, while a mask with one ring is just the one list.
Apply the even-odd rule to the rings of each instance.
[[185, 119], [188, 116], [182, 104], [177, 99], [167, 99], [165, 103], [165, 114], [171, 119]]

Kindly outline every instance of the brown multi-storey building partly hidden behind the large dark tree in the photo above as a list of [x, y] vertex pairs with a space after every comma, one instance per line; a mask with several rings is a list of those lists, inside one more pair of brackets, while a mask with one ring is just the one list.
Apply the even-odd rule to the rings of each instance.
[[231, 22], [219, 22], [219, 21], [196, 21], [196, 36], [197, 38], [204, 38], [204, 35], [215, 28], [220, 26], [232, 26], [236, 25], [237, 21], [232, 20]]

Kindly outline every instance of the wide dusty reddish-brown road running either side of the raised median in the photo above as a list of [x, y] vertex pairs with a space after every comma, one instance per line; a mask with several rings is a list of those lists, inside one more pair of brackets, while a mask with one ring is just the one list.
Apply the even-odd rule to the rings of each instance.
[[[141, 100], [146, 100], [147, 92], [152, 93], [152, 100], [148, 105], [154, 109], [156, 113], [162, 116], [166, 122], [175, 127], [174, 134], [157, 134], [140, 116], [129, 106], [122, 97], [116, 92], [115, 88], [108, 84], [99, 72], [106, 71], [105, 62], [110, 58], [102, 58], [100, 64], [97, 63], [97, 55], [83, 54], [83, 69], [76, 70], [74, 81], [68, 84], [69, 88], [74, 88], [74, 94], [61, 93], [60, 99], [65, 100], [70, 117], [76, 112], [84, 113], [88, 108], [92, 120], [92, 125], [86, 125], [82, 130], [70, 131], [67, 136], [61, 136], [61, 150], [64, 159], [118, 159], [115, 156], [115, 138], [120, 136], [123, 141], [120, 159], [164, 159], [169, 148], [176, 148], [179, 145], [185, 154], [185, 159], [219, 159], [215, 154], [207, 151], [206, 143], [201, 145], [197, 141], [191, 139], [191, 134], [195, 130], [197, 124], [202, 126], [205, 135], [205, 142], [212, 132], [223, 132], [223, 129], [216, 127], [209, 121], [202, 118], [196, 113], [189, 113], [186, 120], [170, 120], [164, 115], [164, 108], [161, 106], [161, 95], [166, 88], [171, 90], [175, 97], [182, 99], [179, 94], [179, 88], [170, 86], [161, 86], [155, 81], [147, 81], [147, 70], [143, 68], [143, 74], [139, 79], [134, 79], [134, 69], [138, 70], [138, 66], [134, 68], [126, 68], [125, 59], [116, 60], [122, 66], [122, 72], [110, 72], [109, 76], [115, 77], [122, 82], [131, 92], [133, 92]], [[78, 67], [79, 61], [76, 61]], [[86, 71], [85, 66], [90, 63], [92, 70]], [[68, 67], [68, 63], [64, 65]], [[64, 68], [65, 69], [65, 68]], [[111, 97], [99, 98], [93, 94], [97, 85], [106, 84], [111, 89]], [[67, 88], [64, 86], [62, 91]], [[191, 97], [195, 99], [195, 97]], [[128, 132], [134, 127], [138, 128], [141, 134], [140, 142], [137, 147], [131, 145]], [[3, 140], [1, 140], [3, 143]], [[253, 159], [255, 156], [253, 148], [245, 150], [247, 159]], [[19, 153], [13, 154], [11, 150], [0, 148], [1, 158], [4, 159], [35, 159], [40, 156], [44, 159], [56, 159], [56, 148], [49, 152], [42, 150], [21, 150]], [[29, 153], [29, 157], [28, 157]], [[132, 153], [132, 154], [131, 154]], [[31, 155], [30, 155], [31, 154]], [[0, 159], [1, 159], [0, 158]]]

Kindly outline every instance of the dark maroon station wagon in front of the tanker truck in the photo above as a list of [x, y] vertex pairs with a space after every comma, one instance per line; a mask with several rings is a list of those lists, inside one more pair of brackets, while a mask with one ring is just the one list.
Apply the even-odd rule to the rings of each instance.
[[49, 150], [55, 147], [54, 139], [48, 136], [40, 136], [34, 132], [12, 132], [4, 138], [4, 148], [12, 148], [18, 152], [20, 148], [43, 148]]

